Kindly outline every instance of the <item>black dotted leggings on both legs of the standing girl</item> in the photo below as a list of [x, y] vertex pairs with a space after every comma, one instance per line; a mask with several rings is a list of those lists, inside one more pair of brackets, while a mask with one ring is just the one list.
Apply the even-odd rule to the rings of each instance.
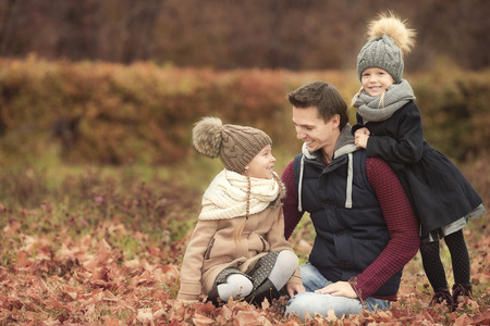
[[[444, 237], [445, 244], [451, 253], [453, 264], [454, 283], [469, 285], [469, 255], [466, 248], [463, 230], [458, 230]], [[439, 241], [422, 242], [420, 244], [420, 254], [424, 269], [427, 278], [434, 290], [446, 289], [448, 280], [445, 278], [444, 266], [442, 265], [439, 253]]]

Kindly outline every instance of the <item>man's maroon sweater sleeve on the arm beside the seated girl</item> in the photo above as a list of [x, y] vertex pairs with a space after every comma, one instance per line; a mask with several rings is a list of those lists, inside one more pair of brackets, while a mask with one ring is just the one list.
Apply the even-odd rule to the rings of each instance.
[[281, 180], [286, 187], [286, 197], [284, 198], [284, 237], [289, 239], [293, 234], [294, 228], [299, 223], [303, 217], [304, 212], [297, 210], [297, 197], [296, 197], [296, 186], [294, 183], [294, 171], [292, 161], [284, 168]]

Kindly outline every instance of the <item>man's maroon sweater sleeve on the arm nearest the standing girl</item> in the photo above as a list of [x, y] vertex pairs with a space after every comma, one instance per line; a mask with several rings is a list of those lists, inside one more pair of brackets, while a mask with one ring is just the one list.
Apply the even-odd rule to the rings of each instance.
[[[420, 242], [414, 211], [399, 178], [388, 163], [379, 158], [368, 158], [366, 173], [378, 197], [390, 233], [390, 241], [376, 261], [350, 280], [363, 300], [372, 296], [408, 263], [417, 253]], [[395, 300], [396, 293], [387, 299]]]

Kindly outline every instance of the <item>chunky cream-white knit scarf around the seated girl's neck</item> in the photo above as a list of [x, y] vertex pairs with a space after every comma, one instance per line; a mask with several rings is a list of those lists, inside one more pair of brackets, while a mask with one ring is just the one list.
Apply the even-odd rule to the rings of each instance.
[[[275, 173], [274, 173], [275, 174]], [[228, 220], [245, 216], [247, 206], [247, 177], [221, 171], [203, 196], [199, 220]], [[250, 177], [249, 214], [264, 211], [279, 195], [279, 185], [272, 179]]]

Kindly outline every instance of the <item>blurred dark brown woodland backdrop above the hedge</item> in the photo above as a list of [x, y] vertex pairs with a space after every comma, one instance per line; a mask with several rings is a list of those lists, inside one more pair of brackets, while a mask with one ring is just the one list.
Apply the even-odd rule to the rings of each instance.
[[409, 72], [449, 55], [489, 66], [488, 0], [5, 0], [0, 57], [152, 61], [179, 67], [354, 67], [367, 22], [394, 11], [417, 32]]

